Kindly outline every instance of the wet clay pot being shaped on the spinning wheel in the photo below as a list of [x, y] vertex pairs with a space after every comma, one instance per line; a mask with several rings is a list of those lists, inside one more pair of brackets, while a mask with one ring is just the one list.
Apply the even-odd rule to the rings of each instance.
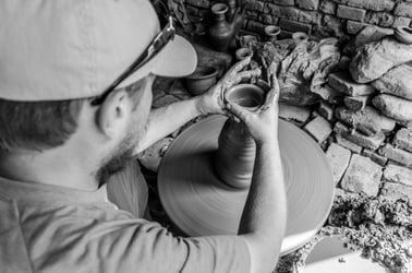
[[[226, 92], [225, 99], [253, 111], [264, 104], [265, 91], [253, 84], [239, 84]], [[249, 187], [255, 154], [256, 145], [246, 127], [228, 119], [219, 134], [214, 161], [217, 176], [231, 187]]]

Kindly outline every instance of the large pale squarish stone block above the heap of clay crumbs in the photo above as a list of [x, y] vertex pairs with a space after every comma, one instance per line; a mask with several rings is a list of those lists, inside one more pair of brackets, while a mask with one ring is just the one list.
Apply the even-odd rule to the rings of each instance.
[[379, 192], [381, 168], [367, 157], [353, 154], [340, 182], [342, 189], [376, 197]]

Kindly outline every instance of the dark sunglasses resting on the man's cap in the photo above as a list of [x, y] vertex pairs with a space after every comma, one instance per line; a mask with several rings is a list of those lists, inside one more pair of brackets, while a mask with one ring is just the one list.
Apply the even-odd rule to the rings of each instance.
[[150, 44], [146, 47], [141, 56], [137, 57], [135, 61], [118, 78], [110, 84], [109, 87], [105, 90], [105, 92], [94, 98], [92, 100], [92, 105], [100, 105], [107, 96], [119, 86], [119, 84], [133, 74], [136, 70], [142, 68], [146, 64], [149, 60], [152, 60], [159, 51], [161, 51], [165, 46], [174, 38], [175, 29], [173, 25], [173, 17], [171, 15], [168, 16], [167, 24], [162, 28], [162, 31], [156, 35], [156, 37], [150, 41]]

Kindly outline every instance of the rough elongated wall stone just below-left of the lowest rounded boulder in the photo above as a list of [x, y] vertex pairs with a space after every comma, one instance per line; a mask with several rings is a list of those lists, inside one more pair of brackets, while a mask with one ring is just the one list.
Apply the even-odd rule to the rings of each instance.
[[381, 115], [371, 106], [366, 106], [360, 111], [340, 106], [336, 109], [335, 117], [366, 135], [390, 132], [396, 126], [395, 120]]

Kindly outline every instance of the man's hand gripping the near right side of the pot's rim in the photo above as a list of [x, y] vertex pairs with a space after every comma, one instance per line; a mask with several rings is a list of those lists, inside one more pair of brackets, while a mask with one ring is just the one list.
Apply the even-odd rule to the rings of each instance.
[[279, 83], [276, 75], [272, 75], [271, 81], [271, 87], [266, 96], [265, 105], [257, 111], [252, 112], [237, 104], [228, 103], [226, 106], [229, 112], [246, 124], [256, 144], [278, 139]]

